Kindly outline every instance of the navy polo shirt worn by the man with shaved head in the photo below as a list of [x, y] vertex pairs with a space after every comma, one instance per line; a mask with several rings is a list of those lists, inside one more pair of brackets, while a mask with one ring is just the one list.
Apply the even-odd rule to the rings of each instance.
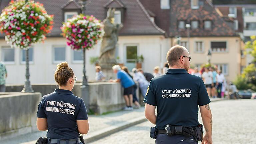
[[156, 127], [197, 126], [198, 105], [209, 104], [203, 80], [185, 69], [169, 69], [150, 81], [144, 102], [157, 106]]

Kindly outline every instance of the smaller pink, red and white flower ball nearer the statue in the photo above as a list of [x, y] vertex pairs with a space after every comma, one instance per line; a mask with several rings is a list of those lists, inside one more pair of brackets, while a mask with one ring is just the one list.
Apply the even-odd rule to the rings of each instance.
[[67, 45], [74, 50], [90, 49], [103, 36], [103, 24], [93, 15], [77, 15], [63, 23], [62, 35], [68, 40]]

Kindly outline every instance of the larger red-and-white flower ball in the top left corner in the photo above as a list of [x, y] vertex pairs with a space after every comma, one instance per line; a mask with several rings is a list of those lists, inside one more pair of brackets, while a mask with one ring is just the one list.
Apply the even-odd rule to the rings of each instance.
[[5, 40], [21, 49], [43, 42], [52, 27], [53, 15], [48, 15], [39, 2], [12, 0], [0, 16], [0, 31], [5, 33]]

